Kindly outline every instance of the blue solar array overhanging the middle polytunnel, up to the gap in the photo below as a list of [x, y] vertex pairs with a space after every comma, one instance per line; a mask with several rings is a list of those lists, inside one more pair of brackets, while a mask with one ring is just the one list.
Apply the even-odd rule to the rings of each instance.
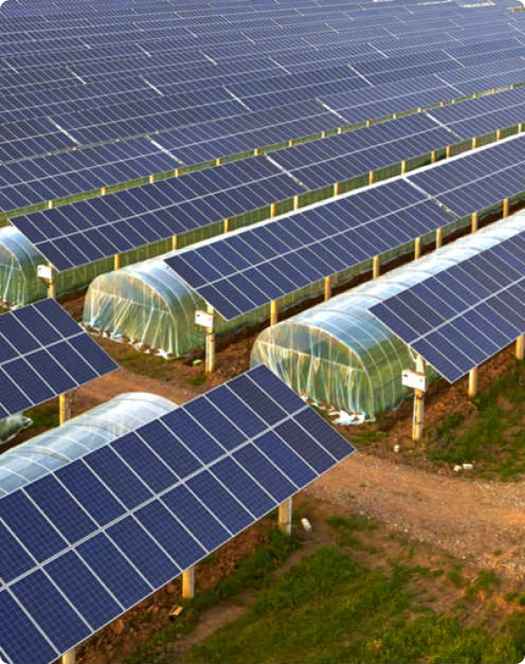
[[229, 320], [451, 220], [421, 191], [394, 180], [188, 248], [165, 262]]

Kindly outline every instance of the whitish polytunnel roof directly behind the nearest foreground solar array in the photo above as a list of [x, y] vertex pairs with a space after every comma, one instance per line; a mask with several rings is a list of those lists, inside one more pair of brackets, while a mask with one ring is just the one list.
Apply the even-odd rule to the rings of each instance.
[[0, 497], [155, 420], [175, 405], [163, 396], [125, 393], [12, 447], [0, 455]]

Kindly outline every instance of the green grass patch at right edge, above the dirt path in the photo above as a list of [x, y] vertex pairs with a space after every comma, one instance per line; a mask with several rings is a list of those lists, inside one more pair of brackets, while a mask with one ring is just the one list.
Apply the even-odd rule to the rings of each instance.
[[495, 380], [473, 399], [473, 423], [453, 412], [427, 436], [434, 461], [482, 462], [487, 476], [513, 479], [525, 473], [525, 363]]

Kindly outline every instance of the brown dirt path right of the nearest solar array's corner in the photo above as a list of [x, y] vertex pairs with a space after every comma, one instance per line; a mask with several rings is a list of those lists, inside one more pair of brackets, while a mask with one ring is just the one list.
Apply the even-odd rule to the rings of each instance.
[[439, 476], [357, 452], [306, 493], [357, 509], [453, 556], [525, 575], [521, 484]]

